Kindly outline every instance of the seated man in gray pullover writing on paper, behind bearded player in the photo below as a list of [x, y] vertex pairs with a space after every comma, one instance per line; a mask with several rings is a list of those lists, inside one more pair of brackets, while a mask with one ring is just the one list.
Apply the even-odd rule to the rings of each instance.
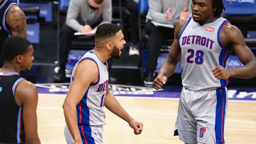
[[[85, 34], [92, 38], [97, 27], [103, 23], [111, 23], [111, 0], [70, 0], [66, 23], [62, 26], [59, 39], [59, 71], [54, 76], [54, 82], [65, 82], [65, 69], [70, 45], [75, 32], [89, 32]], [[94, 33], [93, 33], [94, 32]]]

